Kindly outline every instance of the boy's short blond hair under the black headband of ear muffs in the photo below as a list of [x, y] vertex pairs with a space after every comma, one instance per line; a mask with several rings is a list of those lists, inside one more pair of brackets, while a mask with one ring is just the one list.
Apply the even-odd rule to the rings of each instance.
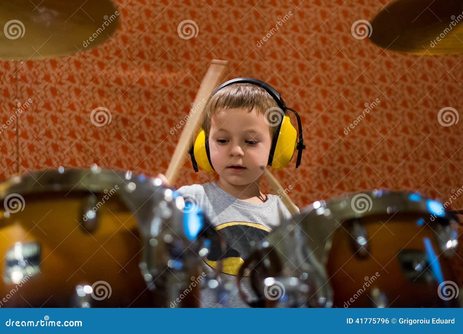
[[273, 140], [278, 130], [278, 126], [275, 126], [275, 114], [280, 119], [282, 114], [281, 112], [278, 114], [275, 109], [269, 110], [272, 107], [278, 107], [278, 104], [264, 88], [251, 83], [233, 83], [209, 97], [204, 107], [204, 118], [201, 127], [206, 136], [209, 137], [211, 119], [217, 110], [244, 108], [248, 109], [248, 112], [255, 110], [257, 114], [265, 115], [267, 118], [266, 123], [269, 125], [270, 138]]

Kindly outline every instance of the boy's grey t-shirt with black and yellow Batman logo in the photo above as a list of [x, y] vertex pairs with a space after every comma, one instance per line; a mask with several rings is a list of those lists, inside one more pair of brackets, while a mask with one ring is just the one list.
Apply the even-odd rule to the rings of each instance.
[[[223, 296], [217, 296], [208, 288], [202, 289], [201, 306], [247, 307], [237, 290], [238, 269], [249, 256], [251, 245], [264, 239], [280, 225], [281, 219], [291, 217], [288, 209], [277, 195], [268, 195], [267, 201], [261, 204], [249, 203], [228, 194], [215, 182], [183, 186], [177, 191], [186, 201], [194, 202], [203, 209], [209, 222], [227, 242], [225, 254], [211, 252], [203, 267], [206, 273], [212, 273], [220, 259], [222, 273], [219, 274], [219, 283], [233, 289]], [[253, 296], [249, 277], [244, 277], [241, 284], [246, 295]]]

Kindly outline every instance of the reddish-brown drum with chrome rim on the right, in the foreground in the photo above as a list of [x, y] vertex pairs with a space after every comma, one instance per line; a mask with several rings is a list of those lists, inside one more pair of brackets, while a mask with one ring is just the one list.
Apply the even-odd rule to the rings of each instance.
[[[279, 244], [278, 238], [261, 242], [260, 255], [254, 257], [267, 259], [267, 269], [257, 265], [260, 273], [250, 275], [257, 283], [285, 271], [286, 278], [288, 272], [298, 279], [310, 277], [300, 270], [307, 261], [292, 254], [305, 248], [316, 258], [313, 263], [324, 267], [324, 283], [332, 288], [332, 295], [323, 296], [325, 306], [456, 307], [458, 286], [450, 265], [457, 256], [456, 224], [440, 202], [418, 193], [374, 190], [314, 202], [275, 230], [284, 236], [283, 229], [299, 229], [297, 238], [288, 234], [289, 241], [284, 237]], [[294, 244], [294, 251], [281, 243]], [[313, 280], [320, 277], [313, 275]], [[263, 286], [256, 288], [262, 291]], [[313, 305], [316, 295], [307, 296], [305, 306]]]

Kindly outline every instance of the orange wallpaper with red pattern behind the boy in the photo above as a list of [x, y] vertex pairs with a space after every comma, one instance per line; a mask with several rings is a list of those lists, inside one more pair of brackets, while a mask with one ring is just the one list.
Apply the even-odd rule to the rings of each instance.
[[[33, 101], [19, 118], [19, 173], [92, 163], [164, 172], [180, 136], [170, 128], [217, 58], [229, 61], [224, 80], [267, 81], [299, 111], [307, 150], [300, 168], [292, 162], [277, 173], [299, 207], [377, 187], [446, 201], [463, 186], [463, 131], [461, 122], [440, 125], [438, 112], [462, 105], [462, 58], [384, 51], [354, 38], [353, 23], [387, 2], [119, 0], [119, 29], [95, 50], [0, 63], [2, 123], [16, 95]], [[196, 36], [180, 37], [184, 20], [197, 24]], [[110, 123], [92, 124], [97, 107], [110, 111]], [[0, 136], [1, 179], [17, 170], [13, 128]], [[177, 186], [211, 177], [189, 162], [180, 175]]]

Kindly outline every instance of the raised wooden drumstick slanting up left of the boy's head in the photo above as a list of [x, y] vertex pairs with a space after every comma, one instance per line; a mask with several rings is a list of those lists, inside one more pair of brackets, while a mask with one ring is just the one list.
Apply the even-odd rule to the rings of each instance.
[[225, 60], [214, 59], [201, 82], [198, 94], [194, 99], [194, 105], [199, 105], [200, 107], [194, 113], [191, 113], [191, 117], [185, 123], [165, 174], [171, 186], [174, 185], [177, 179], [178, 170], [180, 170], [181, 166], [189, 157], [188, 149], [192, 144], [193, 136], [198, 132], [199, 127], [201, 126], [200, 120], [202, 119], [201, 116], [204, 111], [204, 105], [206, 104], [204, 101], [207, 101], [213, 89], [219, 85], [220, 77], [222, 76], [227, 63], [228, 62]]

